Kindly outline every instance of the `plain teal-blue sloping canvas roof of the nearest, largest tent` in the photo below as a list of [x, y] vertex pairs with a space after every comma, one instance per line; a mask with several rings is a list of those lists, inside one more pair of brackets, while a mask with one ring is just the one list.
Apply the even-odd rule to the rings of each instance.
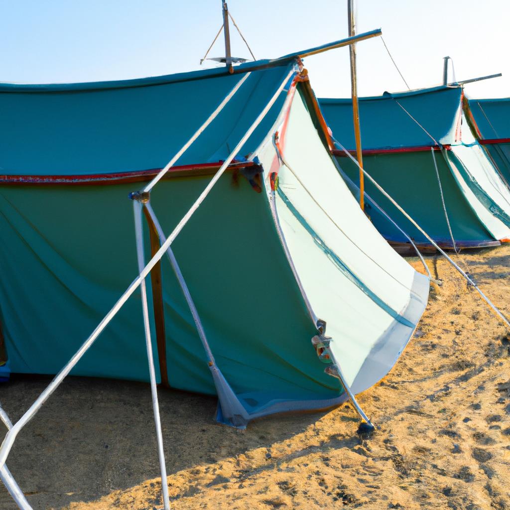
[[[176, 165], [225, 160], [293, 65], [283, 59], [252, 71]], [[161, 168], [246, 76], [242, 70], [120, 82], [0, 85], [1, 173], [101, 175]], [[285, 96], [283, 90], [238, 159], [267, 135]]]

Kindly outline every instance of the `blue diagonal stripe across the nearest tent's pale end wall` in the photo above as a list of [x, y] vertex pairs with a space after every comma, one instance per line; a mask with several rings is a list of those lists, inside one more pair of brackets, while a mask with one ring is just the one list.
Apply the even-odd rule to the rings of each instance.
[[317, 233], [313, 230], [313, 228], [307, 223], [299, 211], [294, 207], [292, 202], [289, 200], [287, 195], [282, 191], [282, 188], [278, 186], [278, 195], [285, 202], [285, 205], [289, 208], [289, 211], [294, 215], [294, 217], [301, 223], [304, 229], [312, 236], [315, 244], [321, 248], [321, 250], [326, 254], [326, 256], [333, 262], [346, 276], [350, 282], [352, 282], [356, 287], [358, 287], [361, 291], [363, 291], [379, 308], [384, 310], [388, 315], [393, 317], [396, 321], [400, 322], [404, 326], [413, 328], [416, 324], [407, 320], [405, 317], [402, 317], [398, 312], [395, 312], [393, 308], [386, 302], [384, 302], [379, 296], [374, 294], [362, 281], [356, 276], [345, 264], [342, 262], [340, 257], [331, 249], [327, 244], [317, 235]]

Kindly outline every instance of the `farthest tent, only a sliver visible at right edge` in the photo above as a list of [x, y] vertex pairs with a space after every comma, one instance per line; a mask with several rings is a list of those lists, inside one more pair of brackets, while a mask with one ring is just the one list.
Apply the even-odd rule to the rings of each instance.
[[510, 188], [510, 98], [464, 98], [464, 111], [473, 135]]

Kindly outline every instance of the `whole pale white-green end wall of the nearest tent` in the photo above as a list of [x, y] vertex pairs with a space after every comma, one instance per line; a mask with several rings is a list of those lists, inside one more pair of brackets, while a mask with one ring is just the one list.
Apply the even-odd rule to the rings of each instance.
[[274, 196], [291, 263], [312, 312], [326, 321], [347, 384], [363, 391], [391, 369], [411, 338], [426, 306], [428, 278], [403, 261], [361, 212], [298, 94], [283, 150], [320, 207], [285, 166], [279, 171], [279, 192], [271, 194], [267, 173], [276, 157], [271, 141], [259, 156], [266, 189]]

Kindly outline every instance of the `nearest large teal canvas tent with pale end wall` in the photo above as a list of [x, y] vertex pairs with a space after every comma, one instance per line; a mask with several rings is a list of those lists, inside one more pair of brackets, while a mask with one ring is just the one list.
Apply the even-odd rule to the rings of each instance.
[[16, 434], [68, 373], [150, 380], [156, 417], [156, 382], [217, 394], [244, 427], [355, 403], [395, 364], [429, 279], [338, 173], [302, 55], [0, 85], [2, 331], [13, 372], [57, 374], [0, 448], [10, 490]]

